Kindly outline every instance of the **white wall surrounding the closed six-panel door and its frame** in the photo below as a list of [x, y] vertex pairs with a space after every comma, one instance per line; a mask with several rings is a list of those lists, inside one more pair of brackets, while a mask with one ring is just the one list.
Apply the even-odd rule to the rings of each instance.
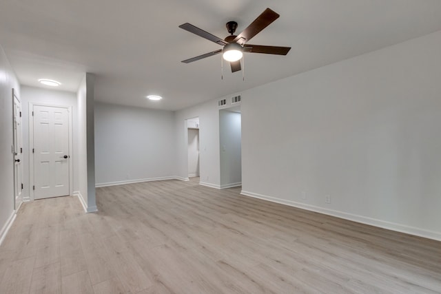
[[[57, 90], [49, 90], [42, 89], [37, 87], [29, 87], [29, 86], [21, 86], [21, 106], [23, 113], [23, 198], [30, 197], [30, 186], [32, 183], [30, 182], [30, 173], [29, 173], [29, 160], [30, 160], [30, 138], [29, 138], [29, 103], [42, 103], [47, 105], [59, 105], [59, 106], [70, 106], [72, 107], [72, 131], [73, 136], [72, 140], [78, 138], [78, 103], [76, 102], [76, 94], [73, 92], [65, 92], [65, 91], [57, 91]], [[73, 166], [73, 191], [78, 191], [79, 183], [78, 183], [78, 160], [76, 160], [78, 147], [74, 144], [74, 150], [70, 151], [70, 156], [72, 157]]]

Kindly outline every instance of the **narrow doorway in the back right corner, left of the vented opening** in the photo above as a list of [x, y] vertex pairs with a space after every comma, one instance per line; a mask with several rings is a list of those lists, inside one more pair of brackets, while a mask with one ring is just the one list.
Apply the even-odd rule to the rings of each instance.
[[188, 177], [199, 176], [199, 118], [187, 119]]

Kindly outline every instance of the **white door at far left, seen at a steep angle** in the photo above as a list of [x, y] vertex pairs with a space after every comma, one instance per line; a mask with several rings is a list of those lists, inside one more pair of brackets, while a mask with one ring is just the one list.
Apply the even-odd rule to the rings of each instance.
[[12, 90], [12, 98], [14, 99], [14, 205], [15, 209], [19, 209], [23, 202], [23, 135], [21, 127], [21, 102]]

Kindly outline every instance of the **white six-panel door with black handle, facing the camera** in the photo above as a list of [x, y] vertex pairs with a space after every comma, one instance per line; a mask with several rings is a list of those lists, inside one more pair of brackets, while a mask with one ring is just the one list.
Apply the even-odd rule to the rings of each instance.
[[69, 113], [34, 105], [34, 199], [69, 195]]

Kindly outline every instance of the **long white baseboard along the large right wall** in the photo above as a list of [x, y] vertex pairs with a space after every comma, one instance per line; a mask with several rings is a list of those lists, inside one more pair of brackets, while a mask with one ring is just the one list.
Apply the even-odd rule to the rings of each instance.
[[417, 235], [417, 236], [420, 236], [423, 238], [429, 238], [432, 240], [441, 241], [441, 232], [429, 231], [426, 229], [420, 229], [420, 228], [416, 228], [416, 227], [409, 227], [404, 224], [397, 224], [394, 222], [377, 220], [375, 218], [368, 218], [366, 216], [358, 216], [355, 214], [346, 213], [346, 212], [342, 212], [342, 211], [325, 209], [322, 207], [316, 207], [314, 205], [309, 205], [309, 204], [305, 204], [305, 203], [300, 203], [300, 202], [295, 202], [295, 201], [285, 200], [285, 199], [280, 199], [280, 198], [274, 198], [271, 196], [260, 195], [258, 193], [252, 193], [249, 191], [241, 191], [240, 194], [243, 196], [248, 196], [248, 197], [258, 198], [258, 199], [276, 202], [276, 203], [280, 203], [280, 204], [285, 204], [285, 205], [288, 205], [291, 207], [297, 207], [300, 209], [323, 213], [328, 216], [335, 216], [336, 218], [343, 218], [345, 220], [351, 220], [353, 222], [360, 222], [362, 224], [369, 224], [371, 226], [380, 227], [382, 229], [388, 229], [391, 231], [398, 231], [400, 233], [407, 233], [410, 235]]

